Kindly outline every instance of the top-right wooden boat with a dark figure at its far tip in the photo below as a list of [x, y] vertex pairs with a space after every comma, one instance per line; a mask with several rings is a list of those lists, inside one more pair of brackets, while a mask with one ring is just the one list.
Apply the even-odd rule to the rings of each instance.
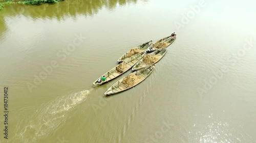
[[174, 36], [168, 36], [161, 40], [158, 40], [156, 43], [152, 44], [152, 47], [147, 49], [147, 52], [153, 52], [157, 49], [168, 47], [170, 44], [172, 44], [176, 39], [176, 35]]

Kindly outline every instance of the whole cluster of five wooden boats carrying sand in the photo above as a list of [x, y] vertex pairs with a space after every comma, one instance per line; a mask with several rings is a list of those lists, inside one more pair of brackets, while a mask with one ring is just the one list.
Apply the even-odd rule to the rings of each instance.
[[[136, 83], [132, 84], [131, 86], [125, 85], [123, 83], [124, 78], [127, 77], [125, 76], [122, 79], [118, 80], [116, 83], [114, 83], [104, 94], [106, 96], [113, 95], [135, 87], [152, 73], [155, 68], [155, 64], [163, 58], [167, 51], [167, 47], [172, 44], [175, 39], [176, 34], [172, 34], [171, 36], [158, 40], [154, 44], [153, 41], [148, 41], [133, 48], [138, 49], [139, 52], [135, 52], [136, 54], [132, 53], [131, 51], [133, 49], [131, 49], [130, 51], [124, 53], [117, 60], [119, 64], [116, 67], [104, 73], [97, 80], [95, 80], [93, 84], [101, 85], [109, 82], [110, 80], [117, 78], [118, 76], [122, 75], [123, 73], [132, 68], [133, 72], [127, 76], [136, 75]], [[145, 61], [147, 60], [146, 58], [151, 58], [149, 59], [151, 61]], [[104, 77], [104, 81], [100, 80], [102, 77]]]

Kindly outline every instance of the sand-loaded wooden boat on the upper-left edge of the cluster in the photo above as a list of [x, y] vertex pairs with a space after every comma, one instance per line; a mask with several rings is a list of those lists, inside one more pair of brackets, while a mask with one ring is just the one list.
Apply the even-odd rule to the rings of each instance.
[[141, 52], [145, 52], [147, 49], [149, 49], [152, 45], [152, 41], [148, 41], [144, 44], [141, 44], [133, 49], [131, 49], [130, 51], [127, 51], [125, 54], [123, 54], [118, 60], [117, 62], [122, 62], [126, 59], [131, 58], [131, 56], [135, 55], [135, 54], [139, 54]]

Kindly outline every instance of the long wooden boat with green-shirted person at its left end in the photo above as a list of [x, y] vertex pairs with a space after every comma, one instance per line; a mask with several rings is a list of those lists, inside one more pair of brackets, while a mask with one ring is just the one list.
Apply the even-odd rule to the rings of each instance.
[[105, 81], [101, 81], [99, 83], [98, 79], [102, 77], [100, 76], [97, 80], [93, 82], [93, 84], [100, 85], [120, 76], [121, 74], [125, 73], [127, 70], [131, 69], [137, 62], [139, 62], [141, 58], [143, 58], [145, 53], [146, 52], [141, 52], [140, 54], [136, 54], [131, 58], [124, 60], [122, 63], [118, 64], [116, 67], [112, 68], [111, 70], [109, 70], [108, 72], [102, 75], [106, 77]]

